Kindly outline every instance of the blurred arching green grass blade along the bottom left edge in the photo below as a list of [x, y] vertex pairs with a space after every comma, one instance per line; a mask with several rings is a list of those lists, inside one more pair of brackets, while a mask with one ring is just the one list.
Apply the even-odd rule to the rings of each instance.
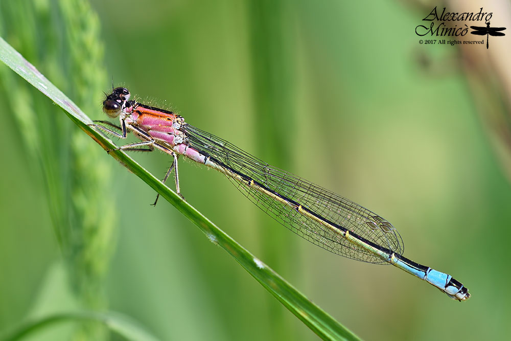
[[41, 329], [61, 322], [89, 321], [104, 324], [109, 330], [133, 341], [157, 341], [158, 338], [143, 329], [136, 321], [117, 312], [79, 311], [65, 312], [30, 321], [1, 337], [4, 341], [16, 341]]

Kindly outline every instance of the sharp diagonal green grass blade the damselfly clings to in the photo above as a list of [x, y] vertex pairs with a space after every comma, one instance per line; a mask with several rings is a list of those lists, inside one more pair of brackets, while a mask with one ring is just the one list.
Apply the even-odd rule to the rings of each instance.
[[[25, 78], [43, 94], [62, 107], [66, 115], [72, 119], [83, 131], [100, 144], [105, 150], [116, 146], [103, 134], [87, 124], [92, 121], [69, 100], [48, 79], [40, 74], [33, 65], [17, 53], [5, 40], [0, 38], [0, 59], [12, 70]], [[323, 339], [358, 340], [359, 338], [350, 330], [335, 321], [332, 316], [310, 302], [303, 294], [298, 292], [291, 284], [286, 282], [275, 271], [250, 254], [235, 240], [220, 230], [213, 222], [207, 219], [188, 202], [183, 201], [175, 192], [161, 183], [159, 179], [136, 163], [123, 151], [110, 153], [117, 161], [124, 165], [146, 184], [167, 199], [177, 210], [189, 218], [206, 236], [216, 245], [222, 247], [245, 270], [266, 288], [278, 301], [288, 308], [295, 316], [305, 323], [314, 333]]]

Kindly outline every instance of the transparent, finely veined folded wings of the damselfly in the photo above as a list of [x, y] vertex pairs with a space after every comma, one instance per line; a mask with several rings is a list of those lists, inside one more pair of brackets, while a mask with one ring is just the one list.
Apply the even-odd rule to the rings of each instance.
[[275, 200], [254, 186], [249, 186], [250, 179], [287, 201], [301, 205], [324, 221], [356, 233], [390, 253], [403, 254], [403, 240], [398, 231], [379, 215], [305, 179], [270, 166], [211, 133], [189, 124], [183, 125], [181, 130], [187, 135], [190, 147], [237, 174], [244, 175], [243, 181], [228, 177], [254, 204], [297, 235], [343, 257], [388, 264], [366, 249], [345, 240], [339, 233], [299, 213], [294, 205]]

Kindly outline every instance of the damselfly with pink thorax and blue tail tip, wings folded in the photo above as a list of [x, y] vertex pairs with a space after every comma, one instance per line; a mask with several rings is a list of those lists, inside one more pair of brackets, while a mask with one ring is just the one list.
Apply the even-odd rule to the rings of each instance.
[[96, 121], [103, 124], [96, 127], [122, 139], [131, 131], [142, 140], [118, 149], [159, 149], [173, 157], [163, 182], [174, 170], [178, 194], [177, 160], [184, 155], [222, 172], [269, 216], [334, 254], [362, 262], [392, 264], [434, 285], [452, 299], [465, 301], [470, 297], [468, 289], [450, 275], [403, 257], [403, 240], [394, 226], [359, 204], [270, 166], [184, 122], [183, 117], [172, 111], [130, 100], [127, 88], [112, 87], [112, 93], [103, 102], [103, 111], [112, 119], [119, 117], [121, 125]]

